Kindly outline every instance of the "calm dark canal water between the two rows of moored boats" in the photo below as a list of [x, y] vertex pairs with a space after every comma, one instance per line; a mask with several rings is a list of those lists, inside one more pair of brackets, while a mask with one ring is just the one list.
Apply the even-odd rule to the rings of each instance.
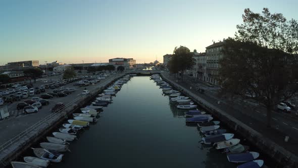
[[236, 167], [202, 146], [196, 127], [149, 76], [132, 77], [101, 117], [51, 167]]

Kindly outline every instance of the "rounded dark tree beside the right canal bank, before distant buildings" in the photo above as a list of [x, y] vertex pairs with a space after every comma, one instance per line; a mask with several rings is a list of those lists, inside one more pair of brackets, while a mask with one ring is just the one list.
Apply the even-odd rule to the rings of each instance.
[[180, 46], [175, 48], [174, 54], [169, 61], [169, 69], [172, 73], [181, 72], [181, 80], [186, 69], [192, 68], [195, 64], [192, 54], [187, 47]]

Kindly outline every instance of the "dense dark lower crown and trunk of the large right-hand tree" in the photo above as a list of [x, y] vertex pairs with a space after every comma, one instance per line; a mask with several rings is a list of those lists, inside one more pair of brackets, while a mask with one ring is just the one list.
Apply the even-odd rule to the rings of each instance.
[[219, 68], [222, 93], [237, 94], [264, 104], [267, 126], [271, 127], [273, 107], [298, 91], [295, 58], [281, 50], [233, 38], [225, 40], [223, 53]]

